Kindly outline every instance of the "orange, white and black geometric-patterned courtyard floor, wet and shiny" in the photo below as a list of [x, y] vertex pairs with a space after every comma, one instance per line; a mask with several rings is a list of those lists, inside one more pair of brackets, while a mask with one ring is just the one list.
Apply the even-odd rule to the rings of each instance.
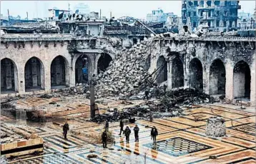
[[[216, 115], [225, 118], [227, 136], [208, 138], [205, 136], [207, 118]], [[100, 133], [103, 127], [82, 118], [71, 123], [84, 124], [77, 130], [88, 133]], [[134, 125], [129, 124], [129, 127], [133, 129]], [[118, 123], [110, 123], [109, 129], [116, 140], [115, 145], [109, 145], [111, 150], [89, 143], [82, 135], [69, 135], [69, 140], [64, 140], [61, 126], [36, 128], [46, 142], [45, 154], [11, 163], [144, 163], [144, 159], [147, 163], [256, 163], [255, 113], [204, 106], [186, 111], [182, 117], [154, 119], [153, 122], [140, 120], [137, 125], [140, 128], [139, 143], [134, 142], [132, 129], [130, 143], [126, 143], [124, 136], [118, 135]], [[158, 129], [157, 145], [152, 145], [150, 128], [145, 128], [145, 125], [154, 125]], [[90, 152], [92, 149], [93, 153]], [[87, 158], [89, 154], [96, 154], [97, 158]], [[217, 159], [210, 159], [210, 155], [217, 156]]]

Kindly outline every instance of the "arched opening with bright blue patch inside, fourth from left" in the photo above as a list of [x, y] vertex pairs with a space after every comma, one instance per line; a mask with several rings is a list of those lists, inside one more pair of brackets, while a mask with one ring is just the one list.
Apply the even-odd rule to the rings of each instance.
[[[87, 73], [83, 73], [87, 71]], [[92, 73], [92, 61], [89, 56], [82, 54], [79, 55], [75, 62], [75, 83], [87, 83]]]

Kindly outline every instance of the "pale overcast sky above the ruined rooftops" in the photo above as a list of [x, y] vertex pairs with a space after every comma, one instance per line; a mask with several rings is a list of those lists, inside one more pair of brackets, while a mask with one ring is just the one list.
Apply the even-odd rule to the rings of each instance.
[[[89, 6], [90, 11], [102, 9], [102, 16], [112, 16], [118, 19], [121, 16], [133, 16], [138, 19], [145, 19], [152, 10], [161, 8], [164, 12], [174, 12], [181, 15], [182, 1], [3, 1], [1, 0], [1, 14], [7, 16], [7, 9], [11, 16], [26, 17], [26, 11], [29, 13], [29, 19], [34, 17], [47, 17], [48, 10], [54, 7], [58, 9], [70, 9], [74, 11], [74, 6], [78, 3], [84, 3]], [[255, 1], [240, 1], [242, 9], [240, 11], [253, 13]]]

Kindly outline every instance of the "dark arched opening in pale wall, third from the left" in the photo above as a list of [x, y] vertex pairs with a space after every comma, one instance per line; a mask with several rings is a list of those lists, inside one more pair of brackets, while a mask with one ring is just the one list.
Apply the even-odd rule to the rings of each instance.
[[69, 86], [67, 83], [69, 64], [63, 56], [56, 56], [51, 61], [51, 88], [64, 88]]

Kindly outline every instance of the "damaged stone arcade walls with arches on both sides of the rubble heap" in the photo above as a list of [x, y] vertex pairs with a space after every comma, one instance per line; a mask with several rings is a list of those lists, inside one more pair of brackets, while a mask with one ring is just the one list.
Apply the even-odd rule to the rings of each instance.
[[[167, 63], [158, 83], [167, 81], [169, 89], [184, 86], [225, 95], [227, 101], [247, 98], [255, 105], [256, 39], [175, 36], [142, 42], [147, 46], [142, 53], [147, 55], [149, 73]], [[106, 37], [5, 34], [1, 37], [1, 96], [45, 93], [83, 83], [84, 66], [91, 78], [123, 49], [118, 39]]]

